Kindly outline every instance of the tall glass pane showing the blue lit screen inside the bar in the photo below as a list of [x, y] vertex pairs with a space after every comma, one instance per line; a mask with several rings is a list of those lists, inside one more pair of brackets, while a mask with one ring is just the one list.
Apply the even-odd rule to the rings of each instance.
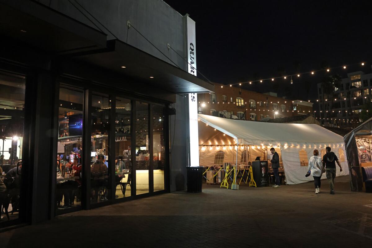
[[56, 207], [81, 206], [83, 164], [83, 91], [60, 86], [58, 103], [58, 144]]

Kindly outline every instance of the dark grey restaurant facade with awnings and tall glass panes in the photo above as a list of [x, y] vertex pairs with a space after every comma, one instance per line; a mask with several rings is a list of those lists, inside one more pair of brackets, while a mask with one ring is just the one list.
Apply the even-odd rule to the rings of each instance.
[[188, 16], [161, 0], [0, 12], [0, 228], [185, 189], [189, 93], [214, 90], [187, 73]]

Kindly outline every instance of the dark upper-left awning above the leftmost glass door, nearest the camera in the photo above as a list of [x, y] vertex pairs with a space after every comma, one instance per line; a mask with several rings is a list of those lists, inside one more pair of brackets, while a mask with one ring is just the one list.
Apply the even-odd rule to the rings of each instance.
[[0, 35], [51, 54], [106, 48], [107, 35], [36, 1], [0, 0]]

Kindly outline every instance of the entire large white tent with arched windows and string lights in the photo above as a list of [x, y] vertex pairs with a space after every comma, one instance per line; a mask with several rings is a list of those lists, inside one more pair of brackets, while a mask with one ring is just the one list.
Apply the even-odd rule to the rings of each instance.
[[[280, 157], [283, 161], [287, 183], [296, 184], [313, 180], [312, 177], [305, 177], [307, 172], [307, 161], [312, 156], [314, 149], [317, 149], [320, 155], [324, 155], [325, 147], [330, 146], [332, 151], [339, 158], [343, 168], [343, 171], [340, 172], [339, 167], [336, 166], [336, 175], [349, 174], [343, 137], [322, 128], [319, 125], [253, 122], [225, 119], [201, 114], [198, 115], [198, 118], [200, 122], [205, 123], [205, 125], [199, 125], [201, 126], [201, 130], [199, 130], [201, 161], [204, 154], [211, 154], [211, 151], [213, 151], [211, 148], [213, 146], [225, 147], [238, 144], [245, 145], [244, 147], [248, 146], [250, 151], [252, 151], [252, 147], [255, 149], [261, 147], [261, 149], [265, 148], [265, 150], [274, 147], [276, 148], [276, 151], [278, 151], [279, 155], [281, 155]], [[221, 132], [221, 134], [213, 134], [214, 129]], [[222, 136], [222, 133], [231, 138]], [[205, 149], [205, 146], [210, 146], [210, 148]], [[238, 149], [238, 151], [243, 151], [243, 149]], [[231, 152], [234, 151], [231, 149]], [[304, 156], [305, 159], [307, 159], [305, 162], [303, 161], [304, 159], [300, 160], [300, 157], [304, 158]], [[234, 159], [234, 156], [231, 157]], [[253, 158], [253, 156], [250, 157]], [[262, 158], [261, 160], [264, 159]], [[203, 161], [201, 162], [201, 165], [213, 165], [214, 161], [213, 159], [209, 159], [209, 164], [206, 163], [208, 162]], [[325, 174], [323, 174], [322, 179], [323, 178], [325, 178]]]

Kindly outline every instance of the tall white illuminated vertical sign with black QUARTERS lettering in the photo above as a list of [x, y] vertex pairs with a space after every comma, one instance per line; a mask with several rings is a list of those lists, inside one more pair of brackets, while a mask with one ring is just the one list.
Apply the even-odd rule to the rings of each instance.
[[[186, 15], [187, 28], [187, 71], [196, 76], [196, 35], [195, 22]], [[189, 126], [190, 126], [190, 166], [199, 166], [199, 134], [198, 134], [198, 96], [189, 94]]]

